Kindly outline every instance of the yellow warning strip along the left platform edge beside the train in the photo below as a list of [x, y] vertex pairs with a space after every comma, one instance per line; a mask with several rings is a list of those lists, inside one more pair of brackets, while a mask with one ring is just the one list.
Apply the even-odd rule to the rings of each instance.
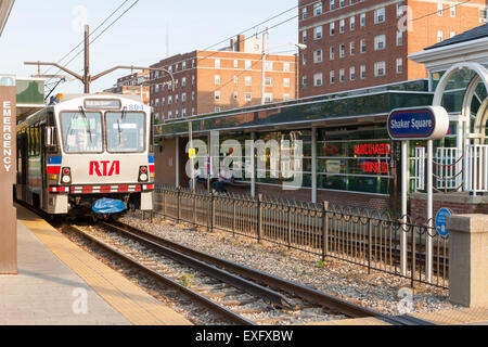
[[191, 325], [181, 314], [63, 236], [44, 220], [17, 207], [17, 219], [105, 301], [134, 325]]

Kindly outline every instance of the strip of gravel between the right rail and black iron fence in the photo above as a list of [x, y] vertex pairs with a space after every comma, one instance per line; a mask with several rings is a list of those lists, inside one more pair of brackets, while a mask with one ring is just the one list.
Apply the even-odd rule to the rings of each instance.
[[268, 242], [257, 243], [226, 231], [207, 232], [192, 224], [176, 224], [155, 217], [151, 223], [140, 214], [129, 214], [120, 222], [151, 232], [160, 237], [190, 246], [222, 259], [295, 281], [326, 294], [371, 308], [385, 314], [432, 312], [458, 308], [449, 303], [449, 292], [415, 283], [393, 274], [368, 269], [346, 261], [320, 257]]

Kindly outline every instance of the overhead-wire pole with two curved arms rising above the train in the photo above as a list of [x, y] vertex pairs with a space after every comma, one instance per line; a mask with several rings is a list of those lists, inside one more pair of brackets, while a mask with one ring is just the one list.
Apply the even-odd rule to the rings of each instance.
[[[172, 76], [172, 74], [170, 72], [168, 72], [166, 68], [160, 68], [160, 67], [141, 67], [141, 66], [126, 66], [126, 65], [118, 65], [112, 68], [108, 68], [107, 70], [104, 70], [103, 73], [100, 73], [95, 76], [91, 76], [90, 75], [90, 31], [89, 31], [89, 26], [86, 25], [85, 26], [85, 73], [84, 76], [78, 75], [77, 73], [59, 65], [57, 63], [47, 63], [47, 62], [25, 62], [25, 65], [37, 65], [38, 69], [40, 69], [41, 65], [49, 65], [49, 66], [54, 66], [57, 67], [59, 69], [65, 72], [66, 74], [72, 75], [73, 77], [75, 77], [76, 79], [80, 80], [84, 85], [85, 85], [85, 93], [89, 94], [90, 93], [90, 85], [91, 82], [95, 81], [97, 79], [113, 73], [116, 69], [119, 68], [124, 68], [124, 69], [141, 69], [141, 70], [158, 70], [158, 72], [164, 72], [166, 74], [169, 75], [169, 77], [171, 77], [172, 80], [172, 90], [175, 91], [175, 76]], [[42, 75], [39, 75], [39, 77], [46, 77]]]

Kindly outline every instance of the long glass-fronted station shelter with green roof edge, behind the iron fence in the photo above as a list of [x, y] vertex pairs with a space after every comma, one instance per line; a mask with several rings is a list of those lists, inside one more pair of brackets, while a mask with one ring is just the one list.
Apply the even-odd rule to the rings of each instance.
[[[434, 207], [447, 204], [444, 207], [455, 213], [488, 213], [488, 196], [484, 196], [488, 193], [486, 27], [413, 54], [412, 60], [426, 64], [427, 79], [167, 119], [155, 126], [156, 182], [189, 185], [191, 132], [193, 147], [197, 140], [208, 147], [206, 153], [197, 150], [195, 159], [210, 156], [214, 166], [233, 156], [232, 170], [237, 175], [228, 191], [395, 213], [399, 210], [401, 176], [408, 175], [411, 213], [419, 209], [420, 216], [425, 216], [426, 145], [410, 141], [409, 168], [402, 169], [401, 145], [389, 139], [386, 123], [395, 108], [441, 105], [449, 112], [450, 127], [446, 138], [434, 143]], [[218, 143], [211, 143], [213, 139]], [[286, 149], [296, 140], [303, 143], [300, 152]], [[241, 146], [228, 145], [235, 141]], [[255, 146], [246, 152], [248, 141]], [[261, 152], [259, 141], [265, 147]], [[279, 143], [278, 152], [271, 141]], [[294, 153], [292, 178], [283, 175], [284, 163], [273, 166], [271, 159], [285, 152]], [[296, 156], [299, 160], [294, 160]], [[205, 171], [204, 162], [196, 162]], [[254, 175], [247, 175], [249, 168]], [[218, 169], [210, 171], [214, 178], [218, 176]], [[284, 183], [297, 176], [299, 187], [284, 189]]]

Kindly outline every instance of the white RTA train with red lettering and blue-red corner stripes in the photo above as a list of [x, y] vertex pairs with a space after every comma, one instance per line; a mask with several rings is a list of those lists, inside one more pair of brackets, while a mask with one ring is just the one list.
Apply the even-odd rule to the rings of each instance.
[[50, 215], [152, 210], [152, 108], [115, 94], [56, 101], [17, 125], [17, 201]]

